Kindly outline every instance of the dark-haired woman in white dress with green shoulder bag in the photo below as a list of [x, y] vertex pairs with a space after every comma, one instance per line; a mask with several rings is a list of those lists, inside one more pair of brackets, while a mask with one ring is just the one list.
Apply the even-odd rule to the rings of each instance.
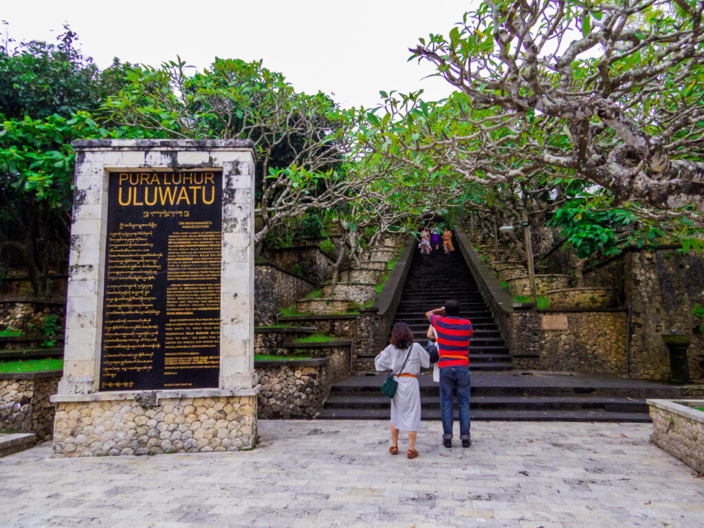
[[415, 438], [420, 427], [418, 373], [420, 367], [430, 366], [430, 356], [420, 344], [413, 342], [413, 332], [408, 325], [397, 322], [391, 332], [391, 344], [379, 353], [374, 363], [377, 370], [393, 370], [398, 382], [396, 396], [391, 400], [389, 453], [398, 455], [398, 432], [408, 431], [408, 458], [415, 458], [418, 455]]

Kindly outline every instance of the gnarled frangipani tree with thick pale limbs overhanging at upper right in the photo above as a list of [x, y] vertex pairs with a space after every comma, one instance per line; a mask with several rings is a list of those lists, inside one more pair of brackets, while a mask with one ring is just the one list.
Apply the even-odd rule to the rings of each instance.
[[691, 0], [484, 1], [411, 50], [458, 89], [455, 126], [471, 132], [417, 141], [467, 177], [551, 170], [700, 221], [703, 11]]

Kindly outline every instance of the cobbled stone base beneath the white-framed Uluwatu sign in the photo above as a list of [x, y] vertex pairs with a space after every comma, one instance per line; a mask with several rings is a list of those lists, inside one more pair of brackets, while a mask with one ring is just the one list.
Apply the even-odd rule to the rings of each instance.
[[54, 456], [239, 451], [256, 441], [256, 396], [56, 404]]

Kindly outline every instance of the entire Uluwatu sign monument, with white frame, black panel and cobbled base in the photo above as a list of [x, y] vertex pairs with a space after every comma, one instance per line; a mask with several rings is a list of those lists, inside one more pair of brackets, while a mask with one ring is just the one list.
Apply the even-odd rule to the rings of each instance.
[[54, 454], [253, 446], [251, 142], [74, 147]]

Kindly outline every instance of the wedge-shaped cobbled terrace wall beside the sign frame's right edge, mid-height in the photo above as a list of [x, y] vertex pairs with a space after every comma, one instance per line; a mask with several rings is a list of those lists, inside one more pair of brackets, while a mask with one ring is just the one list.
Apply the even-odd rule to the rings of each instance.
[[254, 324], [272, 325], [280, 308], [305, 297], [315, 284], [268, 264], [254, 268]]

